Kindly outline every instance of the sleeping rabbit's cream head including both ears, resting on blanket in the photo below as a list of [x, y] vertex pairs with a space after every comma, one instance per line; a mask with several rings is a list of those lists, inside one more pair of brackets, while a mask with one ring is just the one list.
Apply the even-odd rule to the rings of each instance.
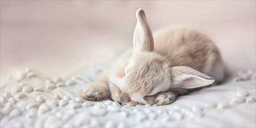
[[[154, 104], [155, 95], [173, 88], [195, 88], [214, 82], [186, 66], [171, 66], [171, 60], [153, 51], [154, 40], [142, 9], [136, 12], [133, 55], [119, 79], [111, 79], [114, 101], [122, 105]], [[127, 60], [128, 61], [128, 60]]]

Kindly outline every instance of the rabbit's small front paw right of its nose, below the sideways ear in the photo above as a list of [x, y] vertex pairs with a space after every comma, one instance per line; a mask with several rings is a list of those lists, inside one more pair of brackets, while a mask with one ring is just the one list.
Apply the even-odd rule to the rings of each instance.
[[159, 94], [155, 99], [155, 104], [158, 106], [168, 105], [174, 102], [175, 99], [176, 99], [176, 96], [173, 94]]

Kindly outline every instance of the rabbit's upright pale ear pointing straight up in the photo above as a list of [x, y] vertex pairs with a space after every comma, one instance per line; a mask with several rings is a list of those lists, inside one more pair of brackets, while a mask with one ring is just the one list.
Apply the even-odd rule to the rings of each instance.
[[133, 47], [136, 52], [152, 51], [154, 39], [142, 9], [136, 12], [137, 24], [133, 34]]

